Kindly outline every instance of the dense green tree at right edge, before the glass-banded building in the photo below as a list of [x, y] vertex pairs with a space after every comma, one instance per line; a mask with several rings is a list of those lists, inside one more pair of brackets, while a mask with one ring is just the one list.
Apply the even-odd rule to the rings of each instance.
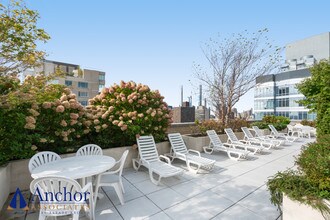
[[311, 77], [297, 88], [306, 97], [300, 103], [316, 112], [318, 136], [330, 134], [330, 61], [324, 60], [313, 66]]

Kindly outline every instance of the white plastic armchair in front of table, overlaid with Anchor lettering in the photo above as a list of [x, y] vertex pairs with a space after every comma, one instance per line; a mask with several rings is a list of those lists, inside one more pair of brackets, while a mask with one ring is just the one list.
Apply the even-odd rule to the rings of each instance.
[[[88, 213], [89, 219], [95, 219], [93, 187], [91, 183], [88, 183], [82, 188], [73, 179], [49, 176], [33, 180], [30, 184], [30, 191], [32, 194], [39, 196], [39, 220], [44, 220], [47, 216], [65, 215], [72, 215], [73, 220], [78, 220], [81, 208], [84, 208]], [[75, 193], [78, 193], [79, 196], [76, 197], [76, 200], [79, 201], [74, 199]], [[70, 194], [72, 201], [69, 198]], [[71, 208], [68, 208], [69, 205]], [[49, 208], [47, 209], [47, 207]], [[56, 209], [51, 207], [56, 207]]]

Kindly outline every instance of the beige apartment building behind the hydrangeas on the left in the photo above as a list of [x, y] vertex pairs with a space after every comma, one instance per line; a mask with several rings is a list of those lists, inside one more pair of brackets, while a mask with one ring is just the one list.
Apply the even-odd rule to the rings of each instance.
[[45, 74], [54, 73], [57, 69], [66, 74], [65, 77], [54, 79], [51, 83], [66, 85], [77, 95], [78, 101], [88, 105], [88, 99], [96, 96], [105, 86], [105, 72], [90, 69], [80, 69], [79, 65], [45, 60], [43, 64], [35, 69], [26, 70], [23, 77], [38, 72]]

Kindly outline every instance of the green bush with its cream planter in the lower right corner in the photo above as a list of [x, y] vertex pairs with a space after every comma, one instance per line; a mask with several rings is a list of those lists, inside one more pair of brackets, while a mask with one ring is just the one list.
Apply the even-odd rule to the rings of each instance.
[[[330, 135], [303, 146], [296, 158], [297, 169], [278, 172], [268, 180], [271, 202], [283, 212], [283, 218], [311, 219], [304, 214], [309, 208], [317, 210], [313, 219], [330, 219]], [[286, 207], [287, 199], [298, 202], [303, 210], [292, 212]], [[291, 201], [290, 201], [291, 202]], [[307, 205], [304, 206], [304, 205]], [[303, 215], [297, 217], [298, 214]], [[318, 217], [317, 217], [318, 216]]]

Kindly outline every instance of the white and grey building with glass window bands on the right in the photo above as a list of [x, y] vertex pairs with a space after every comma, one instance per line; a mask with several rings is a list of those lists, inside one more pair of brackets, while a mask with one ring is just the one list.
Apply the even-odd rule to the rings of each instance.
[[330, 32], [286, 45], [286, 61], [277, 74], [260, 76], [254, 90], [255, 119], [265, 115], [285, 116], [291, 120], [315, 120], [316, 115], [298, 104], [304, 99], [296, 85], [310, 77], [309, 68], [330, 58]]

